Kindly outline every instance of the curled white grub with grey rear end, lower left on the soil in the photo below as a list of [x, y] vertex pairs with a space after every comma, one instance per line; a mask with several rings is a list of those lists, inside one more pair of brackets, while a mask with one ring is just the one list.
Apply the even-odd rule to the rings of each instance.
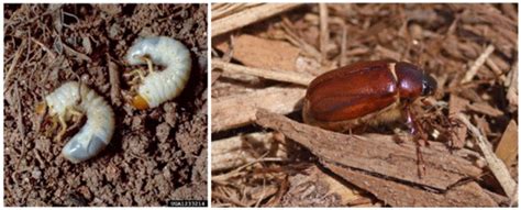
[[68, 81], [45, 97], [48, 115], [58, 120], [65, 133], [66, 122], [75, 114], [86, 114], [87, 122], [64, 146], [62, 154], [73, 163], [80, 163], [100, 153], [114, 133], [114, 113], [110, 106], [93, 90], [77, 81]]

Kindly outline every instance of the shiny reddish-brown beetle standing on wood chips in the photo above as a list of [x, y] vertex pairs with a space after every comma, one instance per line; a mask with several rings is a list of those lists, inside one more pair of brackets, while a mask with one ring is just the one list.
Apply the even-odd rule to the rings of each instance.
[[404, 62], [361, 62], [328, 71], [311, 81], [306, 93], [304, 122], [333, 131], [395, 121], [406, 114], [415, 134], [419, 128], [409, 106], [432, 96], [436, 81]]

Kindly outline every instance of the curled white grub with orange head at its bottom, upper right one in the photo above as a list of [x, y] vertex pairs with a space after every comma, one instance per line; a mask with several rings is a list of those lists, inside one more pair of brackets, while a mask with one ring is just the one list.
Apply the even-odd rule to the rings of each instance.
[[[148, 75], [140, 71], [141, 85], [132, 104], [140, 110], [155, 108], [176, 98], [185, 88], [191, 70], [188, 48], [170, 37], [153, 36], [138, 40], [126, 54], [130, 65], [148, 65]], [[153, 70], [152, 63], [165, 69]]]

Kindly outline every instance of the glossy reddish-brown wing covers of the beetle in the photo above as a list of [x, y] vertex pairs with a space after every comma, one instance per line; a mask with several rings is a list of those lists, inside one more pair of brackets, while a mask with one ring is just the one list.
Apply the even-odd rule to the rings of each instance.
[[319, 121], [343, 121], [389, 107], [398, 90], [388, 64], [357, 63], [317, 77], [306, 95], [309, 115]]

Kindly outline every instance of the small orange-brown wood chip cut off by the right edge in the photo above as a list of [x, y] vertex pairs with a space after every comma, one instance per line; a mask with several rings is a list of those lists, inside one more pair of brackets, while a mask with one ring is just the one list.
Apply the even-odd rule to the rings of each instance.
[[518, 125], [514, 120], [510, 120], [510, 123], [508, 123], [498, 147], [496, 147], [496, 155], [507, 166], [512, 166], [516, 163], [518, 156]]

